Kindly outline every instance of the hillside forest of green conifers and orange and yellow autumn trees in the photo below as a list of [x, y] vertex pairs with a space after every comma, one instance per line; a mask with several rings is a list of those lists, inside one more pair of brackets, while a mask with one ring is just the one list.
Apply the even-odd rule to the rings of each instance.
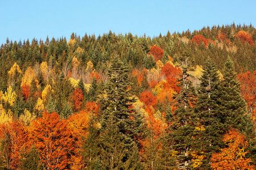
[[0, 48], [0, 169], [256, 169], [256, 29]]

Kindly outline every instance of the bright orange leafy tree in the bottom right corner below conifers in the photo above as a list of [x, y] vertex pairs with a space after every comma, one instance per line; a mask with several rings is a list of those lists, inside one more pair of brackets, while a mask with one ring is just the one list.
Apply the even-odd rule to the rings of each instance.
[[254, 169], [254, 166], [250, 165], [251, 159], [245, 157], [247, 152], [244, 150], [248, 146], [245, 136], [232, 129], [222, 140], [228, 147], [212, 155], [212, 169]]

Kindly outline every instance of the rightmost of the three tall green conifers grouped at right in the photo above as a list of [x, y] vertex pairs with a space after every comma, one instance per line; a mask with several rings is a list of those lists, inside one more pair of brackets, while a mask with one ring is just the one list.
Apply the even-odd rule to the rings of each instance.
[[226, 128], [236, 128], [245, 132], [247, 137], [253, 137], [253, 125], [249, 115], [246, 114], [246, 103], [240, 94], [241, 87], [234, 73], [234, 63], [229, 57], [224, 69], [220, 97], [221, 116], [225, 117], [223, 121]]

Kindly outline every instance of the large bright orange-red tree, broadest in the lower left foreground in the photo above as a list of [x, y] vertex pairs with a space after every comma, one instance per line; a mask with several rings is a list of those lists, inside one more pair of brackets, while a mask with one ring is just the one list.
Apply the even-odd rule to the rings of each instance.
[[81, 156], [77, 155], [78, 138], [72, 134], [65, 119], [60, 121], [59, 114], [44, 112], [41, 118], [32, 122], [31, 135], [46, 169], [82, 167]]

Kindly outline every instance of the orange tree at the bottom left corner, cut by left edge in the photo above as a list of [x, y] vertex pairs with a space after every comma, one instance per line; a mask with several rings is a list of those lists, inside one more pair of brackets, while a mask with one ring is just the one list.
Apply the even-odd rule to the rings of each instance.
[[5, 143], [1, 146], [0, 152], [9, 168], [19, 169], [22, 154], [31, 148], [31, 140], [26, 127], [16, 120], [11, 121], [10, 124], [0, 125], [0, 142]]

